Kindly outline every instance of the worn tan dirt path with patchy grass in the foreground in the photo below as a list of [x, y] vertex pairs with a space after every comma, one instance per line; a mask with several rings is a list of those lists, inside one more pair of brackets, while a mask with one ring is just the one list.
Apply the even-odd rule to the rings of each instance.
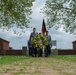
[[53, 58], [31, 58], [1, 66], [0, 75], [76, 75], [76, 63]]

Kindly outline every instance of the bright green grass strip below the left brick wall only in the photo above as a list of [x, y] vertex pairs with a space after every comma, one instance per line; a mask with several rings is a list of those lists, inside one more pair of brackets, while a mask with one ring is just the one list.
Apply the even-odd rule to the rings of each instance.
[[13, 62], [29, 59], [29, 56], [0, 56], [0, 66], [5, 64], [12, 64]]

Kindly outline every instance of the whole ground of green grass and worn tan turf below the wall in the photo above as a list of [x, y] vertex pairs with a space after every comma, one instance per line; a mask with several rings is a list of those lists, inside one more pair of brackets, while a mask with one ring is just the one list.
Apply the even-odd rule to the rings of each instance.
[[0, 75], [76, 75], [76, 56], [0, 56]]

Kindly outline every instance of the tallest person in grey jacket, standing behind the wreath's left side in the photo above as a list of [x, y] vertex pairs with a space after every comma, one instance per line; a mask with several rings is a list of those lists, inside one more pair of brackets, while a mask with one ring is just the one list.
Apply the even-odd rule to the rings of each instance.
[[[36, 28], [33, 28], [33, 32], [30, 34], [30, 40], [32, 42], [32, 40], [34, 39], [35, 36], [37, 36], [38, 33], [36, 32]], [[36, 57], [37, 55], [37, 49], [34, 48], [33, 44], [32, 44], [32, 56]]]

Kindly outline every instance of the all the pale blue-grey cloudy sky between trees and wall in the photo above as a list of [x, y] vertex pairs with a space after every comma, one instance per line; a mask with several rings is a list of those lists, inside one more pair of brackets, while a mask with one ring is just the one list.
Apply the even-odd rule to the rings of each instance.
[[[29, 25], [32, 28], [36, 27], [37, 32], [41, 32], [44, 15], [40, 13], [40, 9], [44, 6], [45, 0], [36, 0], [33, 4], [33, 14], [31, 15], [32, 19]], [[27, 41], [32, 32], [32, 28], [25, 29], [26, 32], [22, 35], [14, 34], [12, 29], [5, 32], [0, 29], [0, 38], [10, 41], [10, 47], [13, 47], [13, 49], [21, 49], [22, 46], [27, 46]], [[19, 29], [17, 29], [17, 31], [20, 32]], [[51, 35], [52, 40], [57, 41], [57, 48], [60, 49], [72, 49], [72, 42], [76, 40], [76, 35], [66, 33], [62, 29], [55, 30], [54, 28], [51, 28], [49, 29], [49, 34]]]

